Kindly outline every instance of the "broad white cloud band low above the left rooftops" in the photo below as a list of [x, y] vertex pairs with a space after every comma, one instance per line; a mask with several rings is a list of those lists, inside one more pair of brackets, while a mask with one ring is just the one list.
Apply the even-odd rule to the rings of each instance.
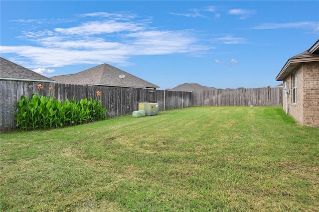
[[1, 53], [16, 53], [29, 58], [27, 67], [63, 67], [75, 64], [116, 63], [131, 65], [133, 55], [161, 55], [209, 50], [196, 43], [187, 31], [142, 31], [129, 33], [124, 42], [107, 42], [103, 38], [64, 40], [63, 37], [37, 39], [35, 46], [1, 46]]

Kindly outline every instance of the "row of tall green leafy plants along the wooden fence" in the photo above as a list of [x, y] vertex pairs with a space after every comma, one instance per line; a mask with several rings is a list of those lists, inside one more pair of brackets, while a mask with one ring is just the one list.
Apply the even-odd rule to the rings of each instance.
[[62, 102], [36, 94], [32, 95], [31, 101], [22, 96], [15, 108], [16, 126], [24, 130], [48, 129], [101, 120], [106, 117], [107, 112], [101, 100], [96, 102], [90, 98], [90, 101], [84, 99], [77, 102], [73, 99], [72, 102]]

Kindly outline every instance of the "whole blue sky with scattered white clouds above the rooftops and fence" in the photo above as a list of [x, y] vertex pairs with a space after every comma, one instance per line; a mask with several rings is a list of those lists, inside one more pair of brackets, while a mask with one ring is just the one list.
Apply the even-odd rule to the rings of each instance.
[[277, 86], [319, 1], [0, 1], [1, 57], [47, 77], [107, 63], [160, 87]]

